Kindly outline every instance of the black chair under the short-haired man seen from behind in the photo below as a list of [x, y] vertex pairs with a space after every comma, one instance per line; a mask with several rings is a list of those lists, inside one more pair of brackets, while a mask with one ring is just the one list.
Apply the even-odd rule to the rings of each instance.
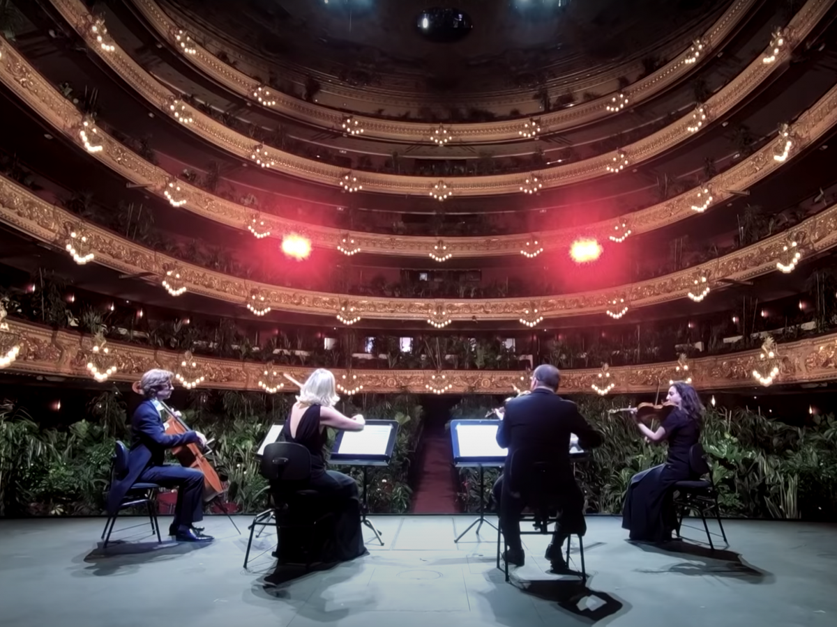
[[[521, 536], [530, 535], [551, 535], [549, 530], [550, 525], [555, 525], [558, 522], [558, 508], [562, 501], [562, 486], [566, 482], [561, 481], [562, 472], [564, 469], [559, 468], [551, 461], [538, 461], [537, 454], [533, 451], [522, 450], [516, 451], [511, 459], [511, 473], [510, 477], [504, 477], [503, 481], [509, 481], [511, 477], [521, 478], [516, 485], [520, 486], [526, 483], [529, 490], [526, 493], [526, 504], [531, 510], [529, 514], [521, 515], [521, 523], [532, 523], [534, 531], [523, 531], [521, 528]], [[503, 553], [508, 551], [508, 544], [506, 538], [503, 537], [501, 542], [502, 524], [497, 525], [497, 568], [501, 568], [500, 561]], [[565, 561], [567, 567], [570, 564], [570, 548], [573, 543], [573, 535], [578, 536], [578, 558], [581, 566], [580, 571], [567, 570], [570, 575], [577, 575], [581, 577], [582, 582], [587, 581], [587, 570], [584, 566], [584, 540], [581, 534], [572, 533], [567, 536], [567, 551]], [[506, 581], [509, 580], [509, 563], [503, 560], [503, 571], [506, 575]]]

